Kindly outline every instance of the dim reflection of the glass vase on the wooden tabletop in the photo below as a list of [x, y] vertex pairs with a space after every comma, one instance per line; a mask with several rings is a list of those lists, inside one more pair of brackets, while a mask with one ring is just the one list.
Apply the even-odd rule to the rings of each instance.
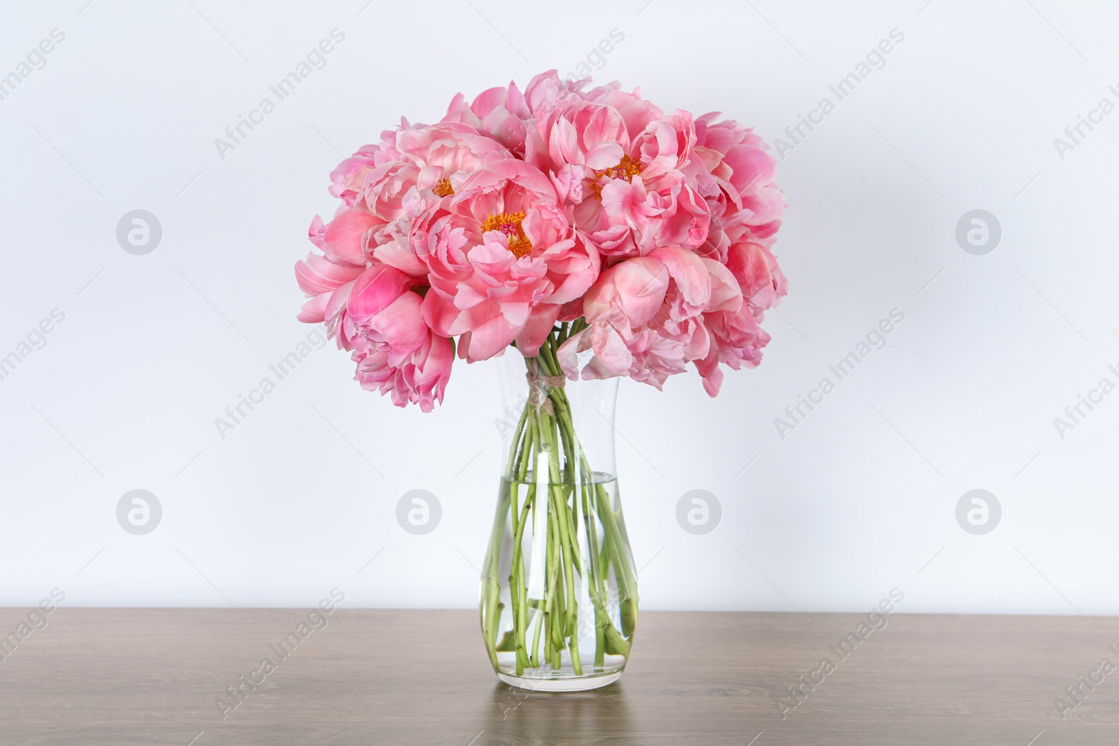
[[490, 702], [480, 739], [486, 746], [618, 744], [641, 738], [630, 723], [626, 692], [618, 683], [576, 692], [532, 692], [500, 683], [493, 687]]

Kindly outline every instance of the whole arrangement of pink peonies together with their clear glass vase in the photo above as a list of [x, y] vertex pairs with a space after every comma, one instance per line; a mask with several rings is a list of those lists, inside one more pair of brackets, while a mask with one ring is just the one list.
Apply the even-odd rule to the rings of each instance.
[[[659, 389], [694, 362], [715, 396], [721, 365], [760, 362], [759, 323], [786, 293], [762, 139], [586, 85], [552, 70], [460, 94], [438, 124], [402, 121], [331, 173], [342, 204], [295, 266], [299, 319], [325, 322], [397, 406], [442, 402], [455, 355], [524, 356], [481, 625], [498, 676], [532, 688], [617, 679], [637, 617], [612, 440], [589, 453], [595, 417], [564, 381]], [[612, 399], [596, 402], [612, 427]]]

